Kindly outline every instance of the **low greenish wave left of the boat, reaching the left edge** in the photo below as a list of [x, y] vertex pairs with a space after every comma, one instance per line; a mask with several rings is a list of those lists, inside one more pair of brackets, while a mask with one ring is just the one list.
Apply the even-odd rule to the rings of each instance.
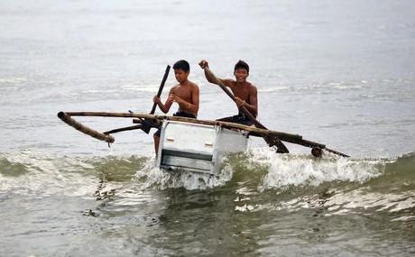
[[130, 181], [144, 157], [82, 157], [24, 150], [0, 153], [0, 192], [92, 197], [100, 181]]

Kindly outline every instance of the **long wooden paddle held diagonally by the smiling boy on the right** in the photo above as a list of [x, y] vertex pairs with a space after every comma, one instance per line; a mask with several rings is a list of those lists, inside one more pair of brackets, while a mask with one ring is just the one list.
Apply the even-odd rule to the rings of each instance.
[[[226, 95], [229, 96], [236, 103], [236, 99], [235, 99], [234, 94], [232, 94], [229, 91], [229, 89], [226, 88], [225, 84], [220, 79], [218, 79], [208, 67], [205, 67], [205, 72], [207, 72], [210, 75], [209, 77], [216, 78], [215, 84], [217, 84], [217, 86], [222, 88], [222, 90], [224, 90]], [[258, 120], [256, 120], [254, 115], [252, 115], [251, 112], [248, 109], [246, 109], [245, 106], [241, 106], [241, 107], [239, 107], [239, 109], [244, 113], [244, 115], [246, 115], [248, 117], [248, 119], [253, 124], [255, 124], [255, 126], [267, 130], [267, 128], [263, 124], [261, 124]], [[281, 142], [281, 140], [275, 135], [264, 136], [263, 140], [265, 140], [265, 142], [270, 147], [276, 146], [277, 147], [277, 152], [280, 152], [280, 153], [290, 152], [290, 151], [288, 151], [287, 147]]]

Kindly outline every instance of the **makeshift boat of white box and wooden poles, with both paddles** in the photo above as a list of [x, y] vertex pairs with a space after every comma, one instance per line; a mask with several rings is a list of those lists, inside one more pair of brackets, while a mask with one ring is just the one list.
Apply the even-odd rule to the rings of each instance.
[[[171, 67], [168, 65], [161, 80], [157, 96], [161, 96], [162, 88], [169, 75]], [[211, 72], [205, 68], [205, 72]], [[213, 73], [212, 73], [213, 75]], [[214, 75], [213, 78], [216, 78]], [[219, 87], [235, 102], [235, 96], [225, 87], [220, 79], [215, 81]], [[282, 143], [291, 142], [312, 148], [311, 153], [320, 157], [323, 150], [348, 157], [345, 153], [334, 151], [326, 145], [304, 140], [299, 134], [283, 133], [268, 130], [258, 122], [244, 106], [239, 111], [244, 113], [254, 126], [226, 123], [219, 121], [198, 120], [179, 116], [154, 115], [156, 104], [152, 106], [150, 114], [138, 113], [106, 113], [106, 112], [60, 112], [58, 117], [78, 131], [86, 133], [98, 140], [109, 143], [115, 142], [112, 133], [141, 129], [150, 133], [152, 127], [161, 127], [157, 167], [165, 170], [188, 170], [216, 175], [220, 170], [221, 162], [228, 153], [245, 151], [248, 137], [262, 137], [268, 146], [279, 153], [288, 153], [289, 150]], [[136, 125], [98, 132], [84, 124], [78, 123], [72, 116], [97, 116], [133, 118]]]

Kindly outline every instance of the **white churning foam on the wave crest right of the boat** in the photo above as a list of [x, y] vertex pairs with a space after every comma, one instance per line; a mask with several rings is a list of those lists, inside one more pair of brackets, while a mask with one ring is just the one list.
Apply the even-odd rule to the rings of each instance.
[[329, 181], [363, 183], [383, 174], [382, 160], [354, 160], [331, 154], [322, 159], [307, 155], [278, 154], [265, 148], [256, 148], [251, 161], [268, 167], [260, 189], [284, 189], [291, 186], [318, 186]]

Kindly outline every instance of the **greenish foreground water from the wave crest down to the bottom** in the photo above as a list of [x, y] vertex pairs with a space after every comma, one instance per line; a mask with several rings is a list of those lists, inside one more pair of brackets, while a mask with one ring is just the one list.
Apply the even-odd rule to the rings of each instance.
[[411, 255], [415, 155], [230, 156], [221, 174], [141, 157], [2, 155], [2, 252]]

